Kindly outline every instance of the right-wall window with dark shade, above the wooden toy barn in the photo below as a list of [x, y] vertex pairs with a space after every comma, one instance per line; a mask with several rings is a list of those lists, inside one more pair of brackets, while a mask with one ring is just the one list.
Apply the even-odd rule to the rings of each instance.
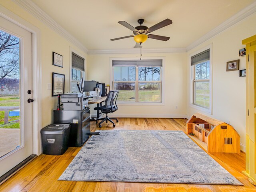
[[191, 57], [194, 71], [193, 104], [210, 109], [210, 50]]

